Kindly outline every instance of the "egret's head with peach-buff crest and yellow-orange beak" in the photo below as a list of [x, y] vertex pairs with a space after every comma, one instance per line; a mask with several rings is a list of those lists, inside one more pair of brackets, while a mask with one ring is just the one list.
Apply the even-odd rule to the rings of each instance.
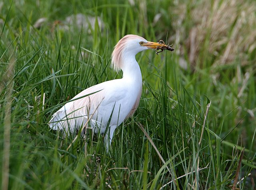
[[[138, 35], [126, 35], [118, 41], [112, 53], [112, 67], [116, 71], [122, 69], [124, 59], [135, 57], [137, 53], [146, 49], [156, 49], [160, 43], [147, 41]], [[166, 45], [161, 45], [166, 46]]]

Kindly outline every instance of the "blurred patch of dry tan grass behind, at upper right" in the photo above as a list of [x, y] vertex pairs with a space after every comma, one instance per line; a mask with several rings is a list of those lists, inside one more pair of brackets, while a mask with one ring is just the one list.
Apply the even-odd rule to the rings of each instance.
[[[213, 65], [230, 64], [235, 59], [241, 65], [248, 65], [248, 54], [256, 49], [255, 2], [189, 1], [177, 4], [175, 14], [178, 15], [178, 20], [173, 22], [178, 35], [175, 39], [178, 43], [186, 42], [192, 68], [202, 65], [209, 57], [213, 57]], [[189, 26], [184, 28], [184, 23]], [[180, 52], [184, 53], [182, 49]]]

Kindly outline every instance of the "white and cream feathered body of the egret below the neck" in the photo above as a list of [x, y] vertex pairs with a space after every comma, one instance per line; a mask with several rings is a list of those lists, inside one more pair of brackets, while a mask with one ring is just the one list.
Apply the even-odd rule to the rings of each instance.
[[[134, 97], [133, 100], [127, 90], [127, 86], [120, 79], [109, 80], [87, 88], [72, 98], [74, 101], [68, 102], [54, 113], [49, 122], [50, 128], [72, 132], [76, 126], [80, 127], [86, 123], [95, 111], [90, 123], [92, 127], [97, 125], [101, 132], [104, 132], [111, 114], [111, 121], [115, 125], [117, 121], [120, 124], [125, 118], [132, 115], [138, 107], [141, 91], [139, 96]], [[87, 94], [91, 95], [86, 96]], [[119, 113], [120, 105], [122, 105], [122, 112]]]

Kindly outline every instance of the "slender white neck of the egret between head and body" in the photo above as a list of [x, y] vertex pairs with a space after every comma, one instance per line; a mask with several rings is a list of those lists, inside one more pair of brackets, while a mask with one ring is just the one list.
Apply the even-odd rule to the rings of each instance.
[[128, 57], [122, 64], [123, 79], [138, 82], [142, 84], [142, 76], [140, 72], [140, 66], [134, 57]]

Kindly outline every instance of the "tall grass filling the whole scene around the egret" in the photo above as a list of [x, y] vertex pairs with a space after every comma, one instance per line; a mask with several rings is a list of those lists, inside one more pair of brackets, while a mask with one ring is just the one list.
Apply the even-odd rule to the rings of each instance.
[[[255, 9], [253, 1], [5, 0], [2, 189], [255, 189]], [[78, 13], [100, 20], [66, 25]], [[46, 21], [33, 27], [39, 18]], [[110, 153], [90, 129], [74, 143], [50, 130], [65, 102], [122, 77], [110, 55], [128, 33], [167, 39], [175, 51], [136, 56], [142, 98]]]

